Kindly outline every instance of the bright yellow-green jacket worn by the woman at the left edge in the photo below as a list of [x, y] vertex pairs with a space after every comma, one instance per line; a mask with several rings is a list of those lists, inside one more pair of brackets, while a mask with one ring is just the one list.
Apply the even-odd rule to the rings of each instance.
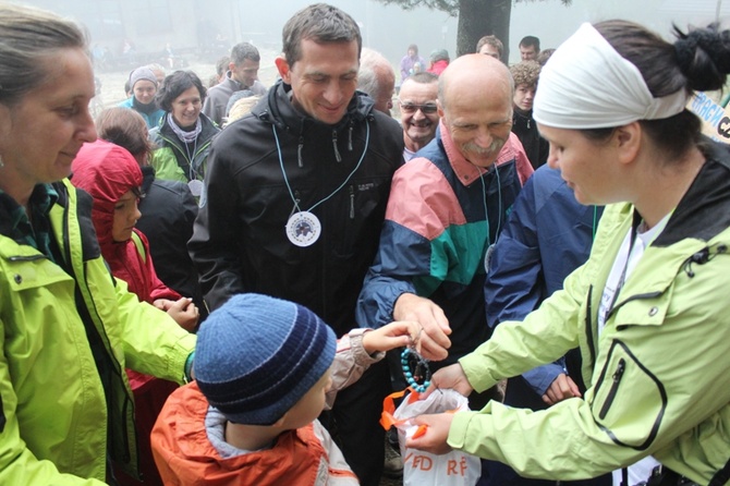
[[0, 215], [3, 485], [100, 484], [107, 457], [134, 474], [134, 404], [124, 368], [181, 382], [195, 347], [193, 335], [111, 277], [90, 196], [68, 180], [53, 187], [58, 265], [9, 238], [10, 217]]

